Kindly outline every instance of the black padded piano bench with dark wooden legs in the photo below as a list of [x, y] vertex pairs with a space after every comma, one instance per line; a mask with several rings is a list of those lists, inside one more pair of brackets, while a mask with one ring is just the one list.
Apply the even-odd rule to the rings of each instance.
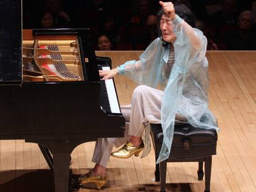
[[[161, 124], [150, 125], [150, 135], [158, 155], [163, 143]], [[161, 182], [161, 191], [165, 191], [167, 162], [198, 162], [198, 180], [203, 180], [203, 162], [205, 162], [205, 192], [210, 192], [211, 156], [216, 154], [218, 135], [216, 130], [175, 125], [171, 153], [166, 161], [156, 164], [155, 180]]]

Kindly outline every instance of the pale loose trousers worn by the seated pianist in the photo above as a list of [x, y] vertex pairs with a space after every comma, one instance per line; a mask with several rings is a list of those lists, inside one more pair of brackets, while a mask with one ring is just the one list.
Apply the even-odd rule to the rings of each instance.
[[[139, 85], [132, 94], [129, 106], [121, 106], [122, 115], [126, 119], [124, 138], [99, 138], [95, 144], [92, 161], [106, 167], [113, 146], [119, 148], [129, 140], [130, 136], [142, 136], [148, 123], [161, 123], [161, 100], [163, 91]], [[177, 119], [177, 115], [176, 115]], [[184, 120], [184, 117], [178, 119]]]

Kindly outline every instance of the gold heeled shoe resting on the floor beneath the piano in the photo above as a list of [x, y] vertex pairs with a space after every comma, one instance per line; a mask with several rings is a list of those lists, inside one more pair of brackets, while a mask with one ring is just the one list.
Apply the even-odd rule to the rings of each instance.
[[82, 185], [87, 183], [96, 183], [96, 188], [100, 190], [100, 188], [107, 183], [106, 174], [93, 176], [91, 175], [91, 172], [88, 172], [85, 175], [79, 177], [79, 182], [82, 183]]

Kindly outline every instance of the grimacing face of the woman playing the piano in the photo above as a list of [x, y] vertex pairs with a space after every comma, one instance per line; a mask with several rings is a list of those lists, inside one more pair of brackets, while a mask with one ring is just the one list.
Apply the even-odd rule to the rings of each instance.
[[160, 30], [162, 32], [163, 40], [168, 43], [174, 43], [176, 36], [173, 33], [173, 22], [165, 14], [160, 19]]

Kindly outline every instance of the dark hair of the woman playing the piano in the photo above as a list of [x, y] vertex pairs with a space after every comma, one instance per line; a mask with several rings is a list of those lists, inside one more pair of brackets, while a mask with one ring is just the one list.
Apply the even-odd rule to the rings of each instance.
[[[185, 20], [186, 23], [188, 23], [191, 27], [195, 27], [195, 15], [192, 12], [192, 10], [189, 9], [184, 4], [180, 4], [179, 1], [174, 2], [174, 9], [175, 13], [179, 15], [182, 19]], [[162, 33], [160, 30], [160, 20], [162, 15], [164, 14], [163, 8], [158, 12], [158, 33], [160, 38], [162, 37]]]

